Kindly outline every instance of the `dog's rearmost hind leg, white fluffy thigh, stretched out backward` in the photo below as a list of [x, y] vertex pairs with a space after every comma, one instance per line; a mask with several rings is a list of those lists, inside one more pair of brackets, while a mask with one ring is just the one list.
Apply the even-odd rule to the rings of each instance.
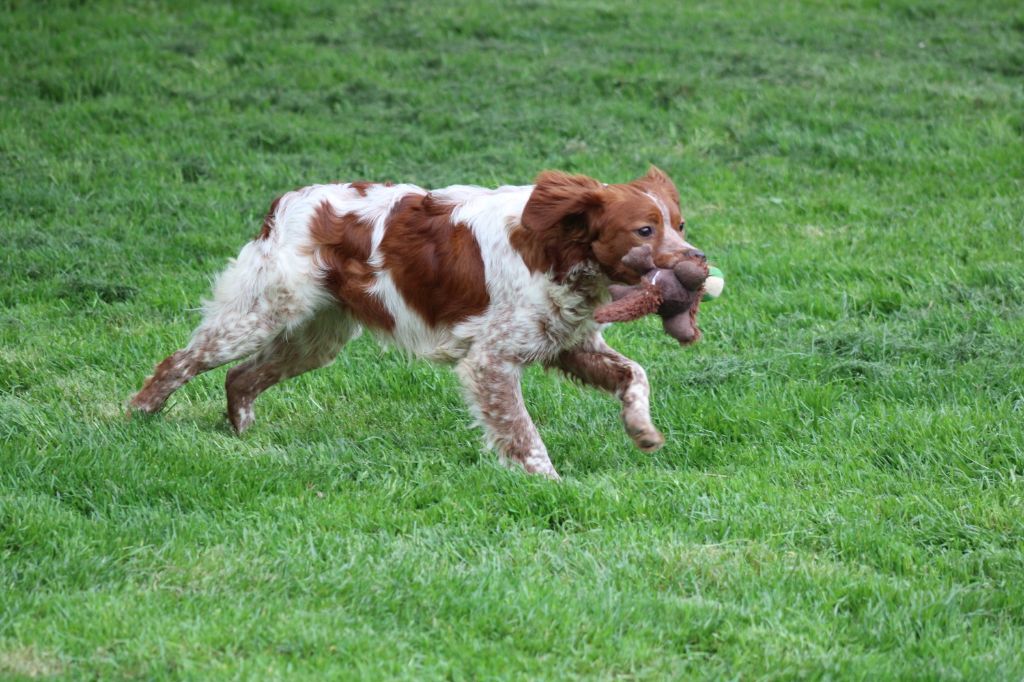
[[128, 402], [153, 414], [198, 374], [248, 357], [329, 304], [308, 272], [286, 271], [261, 242], [250, 242], [217, 279], [191, 341], [157, 366]]

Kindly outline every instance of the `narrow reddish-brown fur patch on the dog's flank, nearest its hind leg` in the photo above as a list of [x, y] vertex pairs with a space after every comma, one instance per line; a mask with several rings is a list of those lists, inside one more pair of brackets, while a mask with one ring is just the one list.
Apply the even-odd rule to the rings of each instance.
[[327, 275], [324, 284], [334, 296], [370, 327], [391, 331], [394, 319], [383, 303], [367, 290], [375, 281], [370, 258], [373, 225], [354, 214], [336, 215], [328, 202], [313, 214], [309, 226]]

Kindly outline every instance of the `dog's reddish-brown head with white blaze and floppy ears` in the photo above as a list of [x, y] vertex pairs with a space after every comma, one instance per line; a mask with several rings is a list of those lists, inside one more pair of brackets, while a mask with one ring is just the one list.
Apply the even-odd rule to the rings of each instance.
[[522, 247], [537, 265], [554, 270], [556, 276], [573, 262], [591, 259], [612, 281], [636, 284], [643, 271], [623, 262], [635, 247], [649, 246], [657, 267], [703, 261], [703, 254], [686, 241], [685, 226], [679, 190], [653, 166], [643, 177], [623, 184], [545, 171], [522, 213], [523, 230], [534, 244]]

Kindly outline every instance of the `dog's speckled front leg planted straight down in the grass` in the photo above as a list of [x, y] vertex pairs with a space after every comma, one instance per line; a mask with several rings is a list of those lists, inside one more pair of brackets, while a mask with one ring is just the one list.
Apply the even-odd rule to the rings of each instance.
[[506, 463], [558, 479], [548, 449], [522, 400], [522, 366], [489, 353], [471, 353], [456, 368], [466, 399], [483, 426], [487, 443]]

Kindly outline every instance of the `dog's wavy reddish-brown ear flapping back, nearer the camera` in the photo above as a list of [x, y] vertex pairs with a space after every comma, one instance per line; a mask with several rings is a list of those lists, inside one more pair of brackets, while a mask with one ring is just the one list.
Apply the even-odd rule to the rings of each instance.
[[601, 205], [600, 182], [586, 175], [544, 171], [522, 211], [522, 226], [531, 232], [560, 228], [587, 231], [587, 213]]

